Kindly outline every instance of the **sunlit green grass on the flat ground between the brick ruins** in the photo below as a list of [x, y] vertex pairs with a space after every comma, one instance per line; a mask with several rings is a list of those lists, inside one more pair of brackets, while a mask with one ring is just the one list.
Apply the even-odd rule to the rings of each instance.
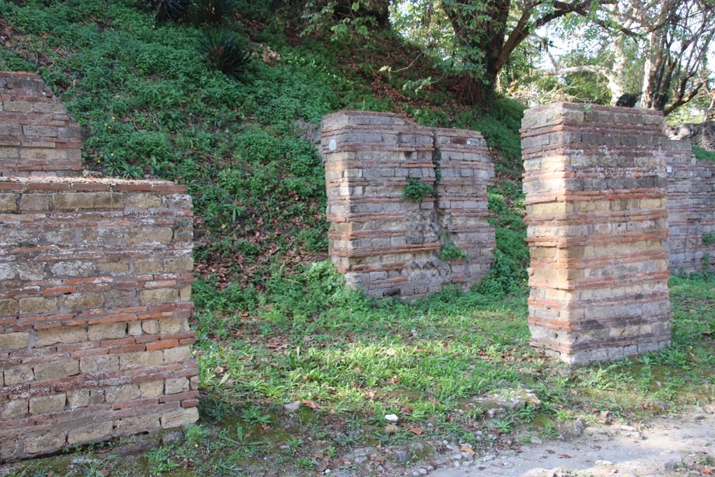
[[[515, 431], [549, 438], [579, 417], [638, 423], [715, 400], [713, 275], [671, 279], [669, 348], [571, 374], [528, 346], [523, 295], [450, 289], [411, 305], [375, 302], [343, 287], [325, 262], [271, 282], [250, 315], [217, 311], [230, 310], [232, 297], [199, 286], [199, 424], [184, 443], [142, 458], [97, 454], [95, 467], [132, 477], [277, 475], [277, 467], [312, 476], [337, 471], [363, 446], [379, 445], [388, 461], [391, 450], [443, 439], [485, 452]], [[489, 418], [467, 405], [524, 388], [540, 406]], [[295, 402], [297, 410], [283, 407]], [[389, 413], [400, 421], [388, 432]], [[83, 468], [67, 475], [87, 475]]]

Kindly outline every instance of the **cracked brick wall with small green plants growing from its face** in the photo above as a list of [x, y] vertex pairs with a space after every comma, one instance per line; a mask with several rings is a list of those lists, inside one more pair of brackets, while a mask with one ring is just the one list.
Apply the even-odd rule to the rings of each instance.
[[[339, 112], [322, 121], [329, 253], [349, 285], [413, 299], [447, 283], [468, 287], [495, 248], [486, 188], [493, 165], [478, 132], [420, 127], [399, 114]], [[440, 179], [437, 180], [437, 171]], [[435, 187], [404, 197], [408, 179]], [[440, 260], [454, 242], [467, 260]]]

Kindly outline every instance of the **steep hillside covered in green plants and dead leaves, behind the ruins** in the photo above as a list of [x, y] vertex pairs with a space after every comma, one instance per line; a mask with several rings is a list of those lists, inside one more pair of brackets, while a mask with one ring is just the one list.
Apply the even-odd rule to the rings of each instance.
[[[252, 56], [232, 81], [205, 66], [201, 26], [157, 24], [152, 12], [142, 1], [0, 1], [0, 69], [38, 72], [59, 94], [82, 126], [87, 169], [188, 185], [197, 271], [220, 289], [249, 300], [271, 275], [325, 259], [325, 179], [310, 142], [325, 114], [405, 112], [479, 129], [502, 177], [518, 179], [521, 107], [504, 100], [485, 117], [451, 100], [446, 82], [403, 90], [436, 72], [390, 32], [370, 41], [285, 34], [245, 7], [231, 28]], [[385, 64], [404, 71], [380, 72]], [[495, 190], [493, 207], [507, 212], [513, 192]]]

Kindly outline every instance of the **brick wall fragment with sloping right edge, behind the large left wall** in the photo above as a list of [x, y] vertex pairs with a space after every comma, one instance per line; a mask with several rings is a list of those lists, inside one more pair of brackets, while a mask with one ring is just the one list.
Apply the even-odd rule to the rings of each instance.
[[42, 79], [0, 72], [0, 80], [0, 176], [81, 171], [81, 130]]

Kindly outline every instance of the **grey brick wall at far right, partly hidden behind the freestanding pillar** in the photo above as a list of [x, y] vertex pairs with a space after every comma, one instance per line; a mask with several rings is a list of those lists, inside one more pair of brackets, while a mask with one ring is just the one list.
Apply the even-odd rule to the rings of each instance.
[[714, 265], [715, 243], [704, 237], [715, 233], [715, 163], [696, 160], [688, 141], [670, 146], [669, 263], [674, 272], [693, 272]]

